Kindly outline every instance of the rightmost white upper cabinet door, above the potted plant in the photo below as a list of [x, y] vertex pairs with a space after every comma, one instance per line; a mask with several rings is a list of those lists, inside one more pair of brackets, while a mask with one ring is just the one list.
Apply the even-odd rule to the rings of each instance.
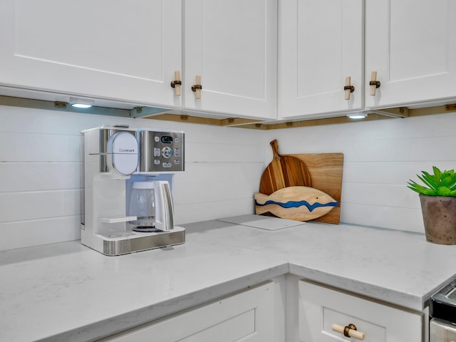
[[456, 1], [366, 1], [366, 107], [456, 97]]

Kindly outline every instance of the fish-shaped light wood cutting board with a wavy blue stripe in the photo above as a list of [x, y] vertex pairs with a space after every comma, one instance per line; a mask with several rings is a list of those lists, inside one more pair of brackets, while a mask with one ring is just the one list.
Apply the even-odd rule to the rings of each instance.
[[282, 219], [309, 221], [338, 206], [336, 199], [313, 187], [284, 187], [271, 195], [254, 194], [255, 213], [270, 212]]

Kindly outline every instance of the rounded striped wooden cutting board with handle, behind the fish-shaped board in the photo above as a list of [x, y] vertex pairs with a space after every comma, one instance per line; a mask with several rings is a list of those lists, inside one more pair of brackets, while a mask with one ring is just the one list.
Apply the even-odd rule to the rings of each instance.
[[261, 176], [259, 192], [271, 195], [284, 187], [311, 187], [311, 175], [305, 162], [295, 155], [280, 155], [277, 140], [272, 140], [270, 145], [273, 157]]

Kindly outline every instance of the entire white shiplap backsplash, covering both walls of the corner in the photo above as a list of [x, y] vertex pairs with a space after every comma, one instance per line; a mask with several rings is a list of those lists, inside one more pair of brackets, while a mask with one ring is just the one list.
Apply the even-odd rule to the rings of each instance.
[[432, 165], [456, 167], [451, 113], [269, 131], [2, 106], [0, 120], [0, 250], [79, 239], [79, 132], [98, 125], [185, 131], [178, 224], [254, 212], [274, 138], [284, 154], [343, 152], [341, 222], [352, 224], [423, 232], [405, 183]]

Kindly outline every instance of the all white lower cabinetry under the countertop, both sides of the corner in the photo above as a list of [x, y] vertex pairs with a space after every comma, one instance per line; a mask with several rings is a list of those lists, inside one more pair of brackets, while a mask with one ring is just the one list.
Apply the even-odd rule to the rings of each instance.
[[[428, 342], [427, 312], [401, 309], [286, 275], [98, 342]], [[352, 327], [353, 328], [353, 327]], [[353, 331], [349, 334], [353, 335]]]

